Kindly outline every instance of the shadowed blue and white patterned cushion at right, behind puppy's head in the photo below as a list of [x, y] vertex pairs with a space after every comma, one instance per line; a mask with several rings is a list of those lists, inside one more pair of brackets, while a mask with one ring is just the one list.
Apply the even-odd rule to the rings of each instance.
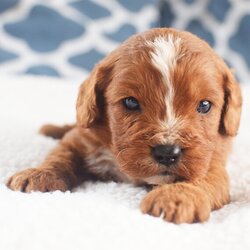
[[249, 83], [249, 0], [163, 0], [160, 24], [202, 37], [234, 69], [241, 82]]

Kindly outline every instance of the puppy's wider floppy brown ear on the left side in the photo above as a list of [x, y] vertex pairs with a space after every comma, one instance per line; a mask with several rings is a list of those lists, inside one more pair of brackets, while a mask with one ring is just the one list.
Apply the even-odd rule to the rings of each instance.
[[76, 104], [78, 126], [89, 128], [104, 115], [104, 91], [111, 81], [113, 69], [106, 61], [97, 64], [80, 86]]

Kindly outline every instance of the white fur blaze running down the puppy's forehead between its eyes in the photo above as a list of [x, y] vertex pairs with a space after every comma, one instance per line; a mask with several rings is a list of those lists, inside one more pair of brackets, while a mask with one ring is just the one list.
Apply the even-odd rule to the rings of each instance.
[[167, 87], [165, 102], [168, 120], [166, 125], [168, 127], [172, 127], [177, 122], [173, 109], [174, 88], [171, 72], [174, 71], [177, 60], [181, 57], [180, 44], [181, 39], [174, 38], [172, 34], [159, 36], [148, 42], [148, 45], [153, 49], [150, 52], [152, 63], [161, 72], [163, 82]]

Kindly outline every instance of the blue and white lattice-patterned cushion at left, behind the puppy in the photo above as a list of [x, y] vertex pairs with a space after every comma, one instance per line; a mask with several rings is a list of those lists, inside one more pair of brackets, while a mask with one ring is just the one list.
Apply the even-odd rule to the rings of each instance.
[[0, 0], [0, 73], [83, 77], [157, 19], [155, 0]]

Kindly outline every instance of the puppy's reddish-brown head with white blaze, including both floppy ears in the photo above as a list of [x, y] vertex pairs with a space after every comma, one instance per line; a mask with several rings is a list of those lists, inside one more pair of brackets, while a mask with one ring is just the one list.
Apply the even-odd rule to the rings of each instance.
[[121, 172], [151, 184], [205, 175], [236, 135], [240, 113], [240, 89], [224, 62], [172, 29], [123, 43], [94, 68], [77, 102], [78, 125], [104, 138]]

